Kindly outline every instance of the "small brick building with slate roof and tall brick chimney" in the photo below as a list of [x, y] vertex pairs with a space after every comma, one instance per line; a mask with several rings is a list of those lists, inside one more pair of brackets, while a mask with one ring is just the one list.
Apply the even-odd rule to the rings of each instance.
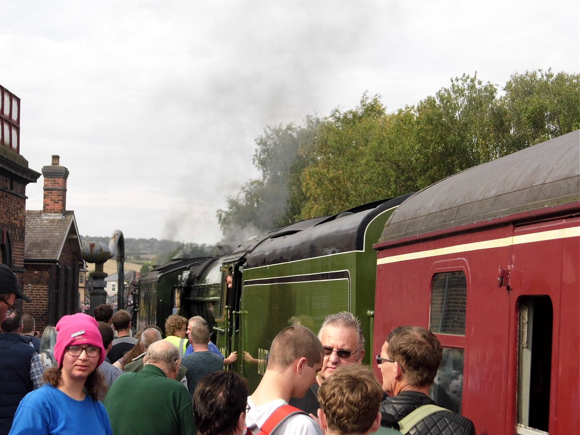
[[32, 299], [27, 313], [39, 331], [79, 312], [79, 276], [84, 274], [77, 221], [74, 212], [66, 210], [68, 169], [53, 155], [42, 176], [43, 208], [26, 211], [24, 247], [24, 285]]

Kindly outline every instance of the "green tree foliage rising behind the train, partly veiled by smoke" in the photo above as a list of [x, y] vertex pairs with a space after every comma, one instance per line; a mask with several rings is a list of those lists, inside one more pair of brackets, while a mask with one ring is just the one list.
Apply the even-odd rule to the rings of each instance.
[[222, 230], [270, 230], [409, 193], [580, 128], [578, 74], [526, 71], [501, 91], [463, 74], [395, 113], [365, 93], [353, 109], [268, 127], [253, 157], [262, 177], [227, 198]]

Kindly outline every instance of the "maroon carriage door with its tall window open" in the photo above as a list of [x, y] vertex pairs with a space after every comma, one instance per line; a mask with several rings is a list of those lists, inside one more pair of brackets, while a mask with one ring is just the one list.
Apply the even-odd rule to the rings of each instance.
[[[510, 378], [516, 433], [556, 433], [563, 220], [516, 227], [510, 292]], [[567, 405], [564, 405], [567, 406]], [[510, 430], [513, 430], [513, 426]]]

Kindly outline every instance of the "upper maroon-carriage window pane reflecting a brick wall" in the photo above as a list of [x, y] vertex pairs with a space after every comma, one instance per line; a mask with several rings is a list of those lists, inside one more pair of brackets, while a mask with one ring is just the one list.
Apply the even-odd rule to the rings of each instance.
[[463, 271], [433, 275], [429, 319], [432, 332], [465, 335], [466, 305], [467, 283]]

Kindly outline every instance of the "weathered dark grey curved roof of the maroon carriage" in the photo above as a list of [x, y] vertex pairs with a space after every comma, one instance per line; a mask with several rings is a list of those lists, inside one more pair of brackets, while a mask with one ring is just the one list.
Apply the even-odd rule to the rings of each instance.
[[579, 139], [571, 132], [426, 187], [391, 215], [378, 245], [578, 201]]

